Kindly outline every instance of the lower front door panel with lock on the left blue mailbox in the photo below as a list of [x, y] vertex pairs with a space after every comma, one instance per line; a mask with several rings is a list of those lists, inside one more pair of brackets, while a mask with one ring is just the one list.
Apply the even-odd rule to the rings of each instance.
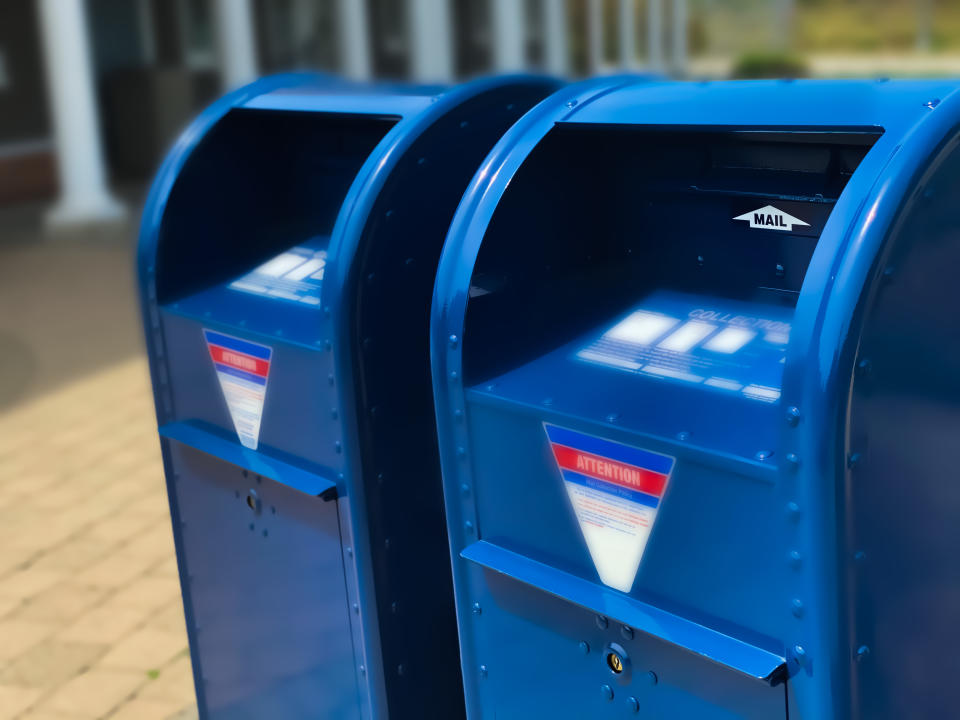
[[359, 717], [337, 502], [168, 442], [204, 716]]

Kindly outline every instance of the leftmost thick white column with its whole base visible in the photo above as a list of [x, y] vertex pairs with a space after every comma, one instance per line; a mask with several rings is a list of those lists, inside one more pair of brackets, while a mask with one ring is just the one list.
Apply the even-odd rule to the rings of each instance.
[[47, 216], [52, 225], [125, 214], [107, 189], [84, 5], [84, 0], [40, 0], [60, 179], [60, 197]]

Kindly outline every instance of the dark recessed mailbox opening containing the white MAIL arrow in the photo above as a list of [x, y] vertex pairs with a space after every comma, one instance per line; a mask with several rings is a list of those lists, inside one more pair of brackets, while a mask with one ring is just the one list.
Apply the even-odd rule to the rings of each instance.
[[[824, 224], [879, 135], [558, 125], [518, 171], [484, 237], [465, 379], [483, 382], [584, 334], [599, 337], [631, 311], [712, 325], [687, 328], [674, 349], [738, 316], [785, 344]], [[663, 340], [644, 317], [619, 334]], [[714, 347], [746, 337], [730, 332]], [[640, 362], [621, 359], [621, 369]]]

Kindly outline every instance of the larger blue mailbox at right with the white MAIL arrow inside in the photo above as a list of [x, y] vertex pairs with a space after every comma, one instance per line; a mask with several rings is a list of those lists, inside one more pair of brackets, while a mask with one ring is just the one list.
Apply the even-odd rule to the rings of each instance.
[[960, 95], [561, 90], [451, 225], [468, 715], [956, 713]]

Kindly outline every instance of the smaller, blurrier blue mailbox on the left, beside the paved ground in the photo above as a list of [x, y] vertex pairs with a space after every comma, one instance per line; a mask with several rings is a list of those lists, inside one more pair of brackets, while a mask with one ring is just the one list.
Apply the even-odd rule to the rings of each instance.
[[161, 168], [139, 275], [202, 717], [462, 715], [430, 294], [555, 85], [267, 78]]

